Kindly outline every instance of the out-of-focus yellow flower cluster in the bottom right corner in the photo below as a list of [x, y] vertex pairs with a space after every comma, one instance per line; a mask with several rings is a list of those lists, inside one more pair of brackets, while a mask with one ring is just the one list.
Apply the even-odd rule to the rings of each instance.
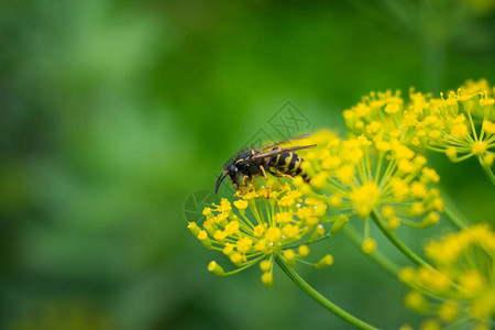
[[464, 328], [490, 329], [495, 315], [495, 232], [490, 226], [476, 224], [432, 241], [425, 252], [435, 268], [406, 267], [399, 274], [413, 288], [406, 306], [432, 315], [429, 322], [438, 326], [462, 322]]

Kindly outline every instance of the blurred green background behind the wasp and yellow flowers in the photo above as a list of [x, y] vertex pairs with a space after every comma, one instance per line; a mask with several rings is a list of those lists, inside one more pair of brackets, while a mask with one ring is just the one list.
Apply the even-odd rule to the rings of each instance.
[[[458, 1], [1, 1], [1, 329], [351, 329], [280, 272], [219, 278], [185, 202], [287, 101], [344, 134], [371, 90], [495, 82], [495, 6]], [[477, 164], [432, 155], [458, 207], [492, 221]], [[223, 188], [224, 189], [224, 188]], [[223, 194], [228, 194], [223, 191]], [[483, 202], [485, 200], [485, 202]], [[399, 229], [416, 251], [426, 230]], [[378, 232], [381, 248], [403, 265]], [[297, 270], [385, 329], [406, 288], [342, 235]]]

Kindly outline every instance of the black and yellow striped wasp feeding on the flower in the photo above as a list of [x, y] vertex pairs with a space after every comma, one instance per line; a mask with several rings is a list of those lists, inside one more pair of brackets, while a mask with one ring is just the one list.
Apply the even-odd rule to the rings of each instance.
[[226, 177], [229, 177], [235, 189], [245, 187], [260, 176], [263, 176], [266, 182], [267, 198], [270, 197], [270, 185], [267, 173], [275, 177], [301, 176], [305, 182], [309, 182], [308, 175], [302, 170], [301, 164], [305, 162], [301, 156], [295, 152], [302, 148], [314, 147], [316, 144], [280, 147], [279, 145], [293, 140], [306, 139], [309, 135], [300, 135], [277, 143], [261, 147], [249, 148], [240, 152], [232, 158], [222, 169], [217, 185], [215, 186], [215, 194], [218, 193], [220, 184]]

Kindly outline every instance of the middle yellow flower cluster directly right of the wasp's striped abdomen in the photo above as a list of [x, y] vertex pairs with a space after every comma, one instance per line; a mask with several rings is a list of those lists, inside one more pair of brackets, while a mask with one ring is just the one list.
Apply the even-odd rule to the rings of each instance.
[[348, 217], [366, 219], [374, 211], [391, 230], [400, 223], [427, 228], [440, 220], [443, 202], [439, 190], [430, 187], [440, 177], [426, 166], [424, 156], [397, 140], [340, 140], [329, 132], [312, 139], [318, 146], [304, 154], [310, 185], [300, 178], [294, 180], [305, 195]]

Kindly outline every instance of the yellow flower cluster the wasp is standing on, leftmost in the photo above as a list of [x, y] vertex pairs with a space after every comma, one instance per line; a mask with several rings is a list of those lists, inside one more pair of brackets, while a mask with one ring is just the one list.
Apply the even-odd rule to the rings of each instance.
[[[328, 232], [321, 223], [326, 219], [326, 204], [302, 197], [288, 184], [271, 188], [268, 198], [265, 187], [242, 188], [237, 193], [238, 200], [230, 202], [222, 198], [220, 205], [205, 208], [206, 220], [201, 226], [189, 223], [189, 230], [205, 246], [221, 251], [239, 267], [226, 273], [217, 262], [211, 262], [210, 272], [226, 276], [260, 262], [262, 282], [271, 286], [275, 255], [294, 265], [297, 258], [308, 255], [308, 243], [333, 233], [337, 222], [333, 231]], [[331, 263], [332, 257], [327, 255], [315, 266], [322, 268]]]

